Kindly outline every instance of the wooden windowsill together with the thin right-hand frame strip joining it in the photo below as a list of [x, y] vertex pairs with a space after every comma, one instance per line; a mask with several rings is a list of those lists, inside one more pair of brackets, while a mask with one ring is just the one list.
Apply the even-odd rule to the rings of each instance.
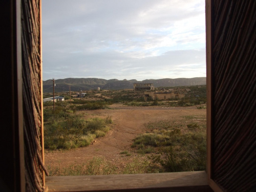
[[[211, 1], [205, 1], [206, 18], [206, 84], [207, 84], [207, 174], [181, 172], [106, 176], [47, 177], [50, 191], [222, 191], [211, 179]], [[84, 182], [86, 180], [87, 182]], [[95, 183], [95, 181], [97, 183]], [[89, 184], [90, 183], [90, 184]], [[106, 187], [106, 186], [108, 187]], [[211, 188], [210, 188], [211, 187]]]

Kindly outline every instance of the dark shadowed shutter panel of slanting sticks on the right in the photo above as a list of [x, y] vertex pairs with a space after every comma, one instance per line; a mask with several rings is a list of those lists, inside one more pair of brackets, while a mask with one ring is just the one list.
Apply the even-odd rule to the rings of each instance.
[[226, 191], [253, 191], [256, 1], [213, 2], [212, 179]]

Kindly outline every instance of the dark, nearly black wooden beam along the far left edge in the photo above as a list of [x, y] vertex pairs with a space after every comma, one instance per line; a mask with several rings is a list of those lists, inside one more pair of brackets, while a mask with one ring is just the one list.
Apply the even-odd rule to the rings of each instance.
[[[0, 178], [2, 191], [25, 191], [20, 0], [0, 2], [0, 49], [4, 63], [1, 104]], [[4, 93], [7, 93], [6, 96]]]

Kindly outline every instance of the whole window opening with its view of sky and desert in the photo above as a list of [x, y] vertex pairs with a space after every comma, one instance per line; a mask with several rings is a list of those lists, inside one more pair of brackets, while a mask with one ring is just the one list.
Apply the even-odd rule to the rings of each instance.
[[[204, 1], [195, 5], [182, 4], [182, 1], [170, 1], [167, 5], [164, 2], [131, 4], [122, 1], [115, 5], [108, 1], [100, 6], [93, 1], [61, 2], [42, 2], [44, 97], [51, 97], [49, 90], [53, 87], [47, 81], [50, 79], [52, 84], [54, 77], [56, 95], [73, 100], [70, 105], [57, 101], [54, 111], [51, 102], [44, 104], [45, 156], [50, 174], [60, 174], [64, 166], [68, 170], [64, 175], [77, 174], [74, 170], [79, 168], [78, 171], [84, 174], [176, 172], [181, 171], [176, 169], [181, 162], [171, 158], [178, 155], [187, 161], [196, 159], [199, 164], [192, 169], [201, 170], [205, 163], [204, 151], [193, 151], [193, 144], [197, 142], [191, 138], [199, 138], [203, 133], [199, 136], [194, 132], [206, 129], [205, 84], [201, 85], [198, 79], [194, 87], [163, 86], [165, 88], [160, 89], [155, 80], [153, 86], [157, 90], [150, 84], [152, 82], [143, 81], [145, 87], [136, 83], [141, 91], [117, 91], [114, 82], [118, 79], [120, 83], [130, 83], [132, 89], [136, 81], [129, 79], [186, 78], [191, 71], [195, 75], [191, 77], [205, 77]], [[182, 13], [180, 16], [178, 10]], [[196, 16], [191, 17], [194, 14]], [[186, 25], [192, 30], [185, 28]], [[94, 84], [81, 88], [81, 79], [71, 83], [76, 79], [68, 81], [68, 77], [90, 78]], [[59, 80], [58, 83], [58, 79], [64, 82]], [[107, 83], [103, 86], [104, 82]], [[144, 91], [150, 92], [145, 94]], [[80, 98], [76, 99], [75, 95]], [[141, 115], [132, 110], [141, 110], [140, 106], [160, 108], [161, 105], [164, 108], [182, 106], [182, 109], [193, 105], [198, 113], [193, 115], [190, 110], [181, 114], [175, 109], [174, 114], [165, 109], [164, 113], [152, 110], [152, 114], [144, 110]], [[99, 108], [104, 113], [99, 113]], [[170, 114], [174, 114], [174, 120], [169, 120]], [[181, 120], [175, 120], [177, 117]], [[117, 130], [116, 123], [123, 129]], [[138, 125], [145, 126], [148, 133], [135, 130], [134, 126]], [[185, 134], [185, 130], [190, 135]], [[110, 134], [114, 135], [111, 139], [108, 138]], [[103, 142], [111, 147], [108, 150], [102, 147]], [[173, 147], [174, 142], [179, 144]], [[86, 147], [72, 150], [77, 146]], [[68, 151], [58, 151], [62, 149]], [[78, 151], [81, 154], [75, 155]], [[69, 157], [72, 157], [71, 163], [66, 161]], [[147, 157], [151, 157], [151, 161]], [[165, 166], [173, 160], [175, 166]], [[153, 161], [156, 163], [150, 167]]]

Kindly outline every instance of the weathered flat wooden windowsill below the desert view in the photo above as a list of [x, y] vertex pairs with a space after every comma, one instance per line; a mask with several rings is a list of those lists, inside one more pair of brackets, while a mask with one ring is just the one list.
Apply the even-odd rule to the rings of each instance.
[[52, 176], [49, 191], [212, 191], [205, 172]]

